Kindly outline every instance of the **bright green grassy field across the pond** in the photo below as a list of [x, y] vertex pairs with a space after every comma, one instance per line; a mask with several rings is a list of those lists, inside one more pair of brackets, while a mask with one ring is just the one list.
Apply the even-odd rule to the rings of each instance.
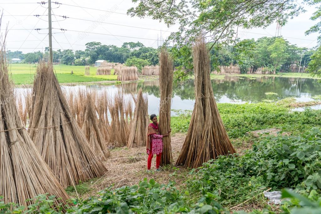
[[[36, 72], [34, 64], [11, 64], [13, 82], [16, 85], [30, 85]], [[96, 67], [90, 67], [90, 76], [84, 76], [85, 66], [54, 65], [59, 83], [116, 81], [117, 75], [96, 75]], [[70, 74], [73, 71], [74, 74]], [[112, 69], [112, 73], [114, 70]]]

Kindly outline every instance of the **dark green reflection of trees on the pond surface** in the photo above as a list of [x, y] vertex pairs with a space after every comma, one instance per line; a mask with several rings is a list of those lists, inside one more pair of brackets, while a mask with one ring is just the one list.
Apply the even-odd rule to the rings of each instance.
[[[130, 87], [126, 86], [127, 89], [125, 91], [127, 93], [135, 93], [138, 88], [142, 88], [144, 92], [160, 97], [159, 81], [127, 84], [136, 84]], [[221, 80], [212, 80], [212, 87], [217, 100], [225, 96], [232, 100], [238, 99], [247, 102], [262, 101], [264, 99], [283, 99], [289, 96], [300, 96], [302, 93], [310, 94], [311, 96], [321, 94], [321, 85], [317, 80], [301, 78], [225, 76]], [[266, 95], [266, 92], [274, 92], [278, 95]], [[195, 99], [194, 81], [189, 80], [174, 84], [173, 95], [179, 96], [181, 99]]]

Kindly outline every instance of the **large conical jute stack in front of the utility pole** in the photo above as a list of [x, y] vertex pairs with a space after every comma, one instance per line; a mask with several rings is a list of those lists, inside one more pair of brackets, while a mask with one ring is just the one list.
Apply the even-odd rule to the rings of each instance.
[[63, 187], [107, 172], [76, 123], [50, 63], [38, 64], [31, 109], [31, 139]]

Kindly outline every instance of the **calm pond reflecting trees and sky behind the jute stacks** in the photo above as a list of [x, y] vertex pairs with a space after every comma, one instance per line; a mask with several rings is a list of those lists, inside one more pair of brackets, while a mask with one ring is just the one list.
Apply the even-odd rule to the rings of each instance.
[[[313, 100], [313, 96], [321, 95], [321, 84], [317, 80], [303, 78], [225, 76], [224, 79], [212, 80], [212, 87], [218, 103], [268, 102], [287, 97], [295, 97], [298, 101], [310, 101]], [[62, 88], [67, 93], [70, 90], [95, 89], [97, 91], [108, 90], [109, 94], [115, 94], [120, 90], [126, 97], [131, 97], [131, 93], [137, 93], [139, 88], [142, 88], [148, 96], [149, 114], [159, 111], [158, 80], [108, 86], [62, 86]], [[16, 90], [19, 94], [30, 89], [17, 88]], [[194, 102], [194, 80], [174, 84], [171, 109], [193, 110]]]

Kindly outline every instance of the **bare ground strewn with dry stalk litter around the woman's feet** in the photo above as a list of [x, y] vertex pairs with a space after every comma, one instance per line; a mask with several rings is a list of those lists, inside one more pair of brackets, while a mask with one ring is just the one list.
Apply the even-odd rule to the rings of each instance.
[[[171, 136], [172, 141], [172, 155], [174, 162], [178, 158], [179, 152], [182, 148], [186, 137], [186, 133], [176, 133]], [[236, 140], [237, 141], [237, 140]], [[250, 148], [252, 142], [238, 143], [235, 147], [238, 153], [242, 154], [242, 151]], [[105, 161], [105, 165], [108, 168], [106, 175], [93, 179], [89, 182], [83, 183], [87, 190], [85, 193], [79, 193], [81, 198], [87, 198], [88, 196], [96, 195], [100, 190], [106, 189], [110, 185], [114, 185], [113, 188], [118, 188], [124, 185], [138, 184], [143, 178], [154, 179], [160, 184], [167, 184], [170, 181], [174, 181], [178, 188], [184, 186], [187, 178], [191, 177], [188, 174], [190, 169], [185, 167], [166, 166], [161, 171], [155, 170], [154, 157], [152, 160], [152, 171], [147, 172], [147, 158], [145, 147], [135, 147], [128, 149], [126, 147], [114, 148], [110, 150], [111, 158]], [[76, 193], [69, 193], [72, 197], [77, 197]]]

